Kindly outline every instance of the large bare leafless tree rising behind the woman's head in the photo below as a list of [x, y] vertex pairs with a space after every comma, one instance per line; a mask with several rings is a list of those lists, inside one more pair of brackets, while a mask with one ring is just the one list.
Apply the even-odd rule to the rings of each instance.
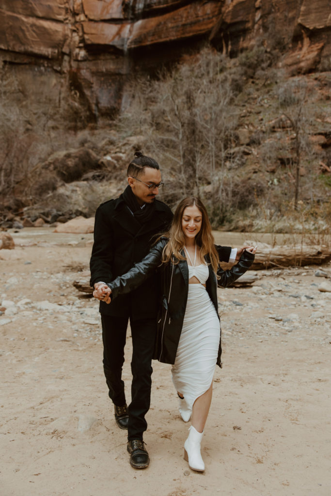
[[232, 174], [227, 164], [235, 160], [229, 149], [237, 122], [223, 56], [202, 51], [194, 63], [162, 74], [148, 88], [141, 84], [137, 88], [135, 83], [122, 119], [125, 125], [138, 123], [136, 131], [148, 136], [149, 149], [173, 178], [174, 202], [183, 194], [203, 196], [208, 186], [211, 209], [222, 208]]

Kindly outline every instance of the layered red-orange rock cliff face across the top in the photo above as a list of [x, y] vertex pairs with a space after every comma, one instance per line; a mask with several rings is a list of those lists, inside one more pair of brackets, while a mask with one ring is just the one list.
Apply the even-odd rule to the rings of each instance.
[[50, 91], [65, 84], [95, 116], [116, 112], [137, 66], [206, 40], [230, 56], [278, 44], [292, 73], [330, 65], [329, 0], [1, 0], [0, 22], [0, 60], [18, 79], [37, 92], [53, 70]]

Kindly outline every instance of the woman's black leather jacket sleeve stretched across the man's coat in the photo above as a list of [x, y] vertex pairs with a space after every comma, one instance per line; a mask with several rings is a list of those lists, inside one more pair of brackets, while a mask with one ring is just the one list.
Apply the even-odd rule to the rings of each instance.
[[162, 252], [167, 240], [162, 238], [153, 246], [147, 255], [122, 276], [117, 277], [114, 281], [107, 283], [112, 290], [111, 299], [118, 295], [130, 293], [148, 279], [157, 267], [161, 264]]

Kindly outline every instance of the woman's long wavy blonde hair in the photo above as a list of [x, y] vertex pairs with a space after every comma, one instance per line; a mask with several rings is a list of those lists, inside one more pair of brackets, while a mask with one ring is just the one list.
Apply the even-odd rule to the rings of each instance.
[[211, 266], [214, 272], [216, 272], [219, 266], [219, 258], [214, 246], [214, 238], [211, 234], [211, 225], [205, 206], [196, 196], [188, 196], [178, 204], [170, 230], [164, 235], [168, 238], [168, 243], [163, 248], [162, 262], [167, 263], [172, 261], [174, 264], [177, 264], [179, 260], [186, 260], [186, 257], [181, 253], [185, 246], [182, 219], [184, 210], [194, 205], [199, 208], [202, 215], [201, 229], [196, 236], [196, 243], [200, 248], [200, 256], [204, 258], [205, 255], [208, 255]]

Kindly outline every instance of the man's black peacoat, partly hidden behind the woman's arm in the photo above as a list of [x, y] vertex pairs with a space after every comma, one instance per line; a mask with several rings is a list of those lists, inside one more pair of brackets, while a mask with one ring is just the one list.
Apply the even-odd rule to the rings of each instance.
[[[94, 245], [90, 260], [90, 285], [107, 282], [127, 272], [152, 246], [156, 235], [168, 230], [173, 214], [157, 199], [150, 222], [140, 224], [132, 215], [121, 194], [102, 203], [95, 214]], [[155, 275], [130, 295], [121, 295], [112, 305], [100, 302], [100, 312], [133, 320], [156, 318], [158, 286]]]

